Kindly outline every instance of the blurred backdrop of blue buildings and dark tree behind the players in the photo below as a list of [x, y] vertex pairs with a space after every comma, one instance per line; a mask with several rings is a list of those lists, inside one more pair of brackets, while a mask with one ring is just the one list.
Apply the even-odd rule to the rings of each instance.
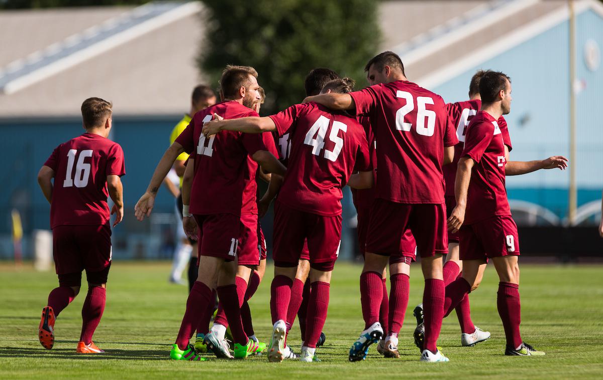
[[[83, 132], [87, 97], [113, 102], [111, 138], [125, 152], [126, 215], [113, 257], [171, 259], [172, 195], [162, 188], [144, 222], [133, 207], [195, 85], [217, 88], [226, 64], [254, 66], [267, 94], [260, 114], [269, 115], [301, 102], [314, 67], [365, 87], [366, 61], [385, 50], [446, 102], [467, 100], [478, 69], [507, 73], [511, 159], [564, 155], [571, 168], [508, 177], [522, 254], [602, 257], [602, 47], [599, 0], [0, 0], [0, 259], [29, 259], [48, 245], [36, 174], [55, 146]], [[345, 195], [340, 257], [353, 260], [355, 209]], [[270, 250], [271, 213], [262, 225]]]

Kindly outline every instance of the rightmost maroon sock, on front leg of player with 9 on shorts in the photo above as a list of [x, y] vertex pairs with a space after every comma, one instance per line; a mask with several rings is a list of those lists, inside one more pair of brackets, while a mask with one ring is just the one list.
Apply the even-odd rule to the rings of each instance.
[[499, 283], [496, 305], [505, 328], [507, 347], [515, 349], [522, 344], [522, 336], [519, 334], [519, 324], [522, 323], [519, 285]]

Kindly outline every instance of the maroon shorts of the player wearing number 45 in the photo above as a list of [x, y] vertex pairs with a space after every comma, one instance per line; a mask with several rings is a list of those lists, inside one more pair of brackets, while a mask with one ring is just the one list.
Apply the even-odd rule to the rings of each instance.
[[297, 266], [308, 241], [310, 264], [335, 263], [341, 243], [341, 215], [322, 216], [274, 204], [274, 262]]

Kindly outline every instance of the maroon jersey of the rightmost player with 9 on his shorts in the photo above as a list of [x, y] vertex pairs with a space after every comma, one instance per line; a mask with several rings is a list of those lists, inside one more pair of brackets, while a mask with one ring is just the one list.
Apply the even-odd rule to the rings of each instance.
[[505, 189], [505, 143], [496, 120], [479, 111], [467, 127], [463, 156], [475, 161], [467, 193], [465, 224], [511, 215]]

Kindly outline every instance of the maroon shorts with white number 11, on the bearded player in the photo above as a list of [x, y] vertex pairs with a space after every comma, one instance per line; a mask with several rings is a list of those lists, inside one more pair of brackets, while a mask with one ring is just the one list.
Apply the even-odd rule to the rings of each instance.
[[235, 260], [241, 232], [240, 216], [229, 213], [194, 216], [199, 231], [197, 256]]

